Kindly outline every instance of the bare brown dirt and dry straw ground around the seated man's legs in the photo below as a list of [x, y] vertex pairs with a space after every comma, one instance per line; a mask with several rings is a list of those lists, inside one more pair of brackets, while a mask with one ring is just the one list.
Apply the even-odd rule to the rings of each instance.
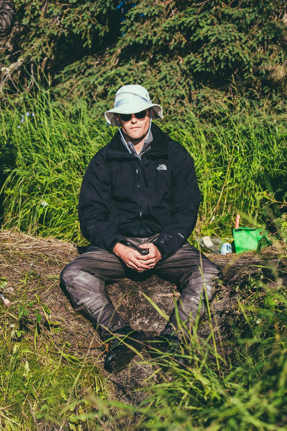
[[[262, 271], [270, 287], [282, 283], [282, 280], [277, 281], [278, 277], [282, 277], [282, 270], [286, 266], [286, 260], [284, 262], [284, 259], [278, 258], [282, 252], [283, 250], [278, 250], [278, 246], [271, 246], [263, 249], [259, 255], [255, 252], [227, 256], [207, 255], [223, 269], [224, 274], [222, 285], [212, 303], [213, 328], [217, 329], [217, 334], [222, 339], [228, 335], [230, 328], [228, 313], [238, 303], [238, 292], [247, 284], [250, 275], [254, 277]], [[60, 287], [59, 274], [62, 268], [78, 256], [74, 244], [51, 238], [30, 237], [15, 229], [2, 230], [0, 253], [0, 278], [8, 281], [5, 294], [14, 306], [35, 299], [35, 294], [40, 296], [41, 303], [51, 310], [53, 321], [60, 322], [60, 327], [64, 329], [65, 340], [71, 343], [70, 353], [74, 356], [82, 354], [80, 347], [101, 342], [85, 317], [74, 312]], [[108, 294], [119, 314], [130, 321], [133, 328], [142, 329], [148, 336], [160, 333], [165, 320], [143, 294], [151, 298], [167, 315], [170, 315], [174, 300], [179, 297], [175, 286], [155, 276], [142, 281], [123, 279], [109, 286]], [[4, 307], [2, 302], [0, 307]], [[205, 319], [198, 327], [198, 336], [204, 339], [208, 334], [210, 326]], [[104, 357], [99, 356], [99, 353], [97, 348], [89, 350], [90, 356], [102, 368]], [[148, 359], [147, 353], [143, 353], [143, 356]], [[130, 400], [133, 390], [145, 387], [151, 375], [157, 379], [151, 366], [142, 365], [139, 361], [140, 358], [136, 357], [130, 367], [110, 376], [120, 400]], [[141, 392], [137, 391], [136, 395], [133, 394], [134, 402], [140, 402], [141, 397]]]

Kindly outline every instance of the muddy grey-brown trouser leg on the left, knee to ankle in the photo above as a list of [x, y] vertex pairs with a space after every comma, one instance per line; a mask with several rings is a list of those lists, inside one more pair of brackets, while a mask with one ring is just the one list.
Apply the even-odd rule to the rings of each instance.
[[120, 318], [105, 289], [123, 277], [125, 271], [120, 259], [94, 246], [69, 263], [61, 273], [72, 305], [76, 310], [83, 309], [103, 340], [109, 334], [106, 328], [116, 331], [129, 325]]

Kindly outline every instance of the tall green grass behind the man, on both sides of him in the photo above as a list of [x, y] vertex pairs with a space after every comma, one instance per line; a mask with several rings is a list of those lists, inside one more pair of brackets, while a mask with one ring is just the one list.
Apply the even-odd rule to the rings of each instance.
[[[264, 110], [255, 118], [239, 101], [209, 97], [205, 118], [186, 106], [185, 115], [157, 124], [194, 157], [202, 193], [197, 230], [222, 237], [230, 234], [235, 212], [256, 222], [256, 192], [284, 182], [287, 121], [269, 118]], [[44, 90], [1, 109], [4, 150], [15, 155], [5, 170], [3, 227], [82, 240], [81, 180], [89, 160], [117, 130], [105, 125], [104, 109], [102, 101], [93, 108], [83, 99], [75, 106], [61, 104]]]

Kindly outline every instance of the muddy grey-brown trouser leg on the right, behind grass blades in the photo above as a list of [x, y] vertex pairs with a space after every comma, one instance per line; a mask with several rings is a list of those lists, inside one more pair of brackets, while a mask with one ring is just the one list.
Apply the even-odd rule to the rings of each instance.
[[176, 303], [181, 323], [177, 322], [174, 309], [161, 334], [183, 335], [188, 342], [188, 333], [192, 333], [197, 314], [199, 321], [204, 317], [204, 299], [212, 301], [214, 298], [221, 269], [186, 242], [173, 256], [159, 262], [154, 270], [160, 278], [176, 284], [181, 293]]

